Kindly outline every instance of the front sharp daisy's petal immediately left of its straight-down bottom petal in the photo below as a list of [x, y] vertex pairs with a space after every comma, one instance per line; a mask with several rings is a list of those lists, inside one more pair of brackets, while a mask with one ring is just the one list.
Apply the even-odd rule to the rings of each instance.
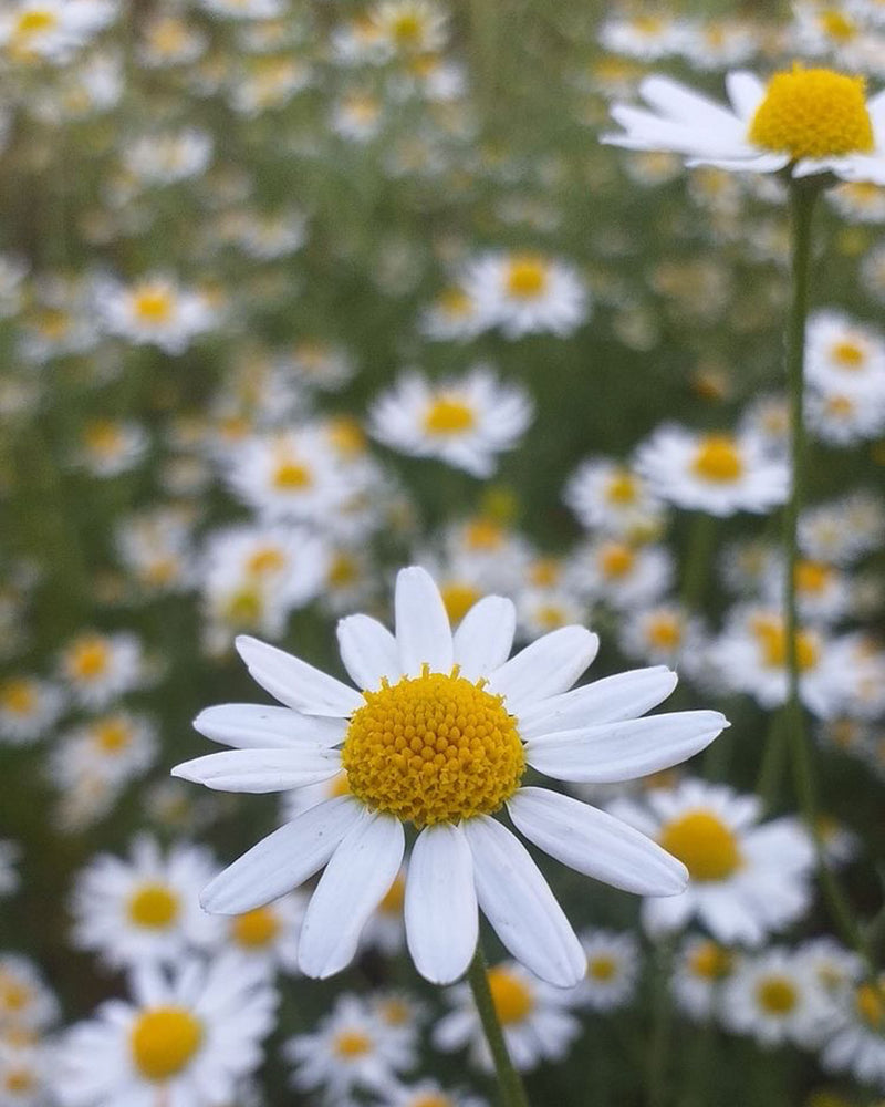
[[368, 917], [391, 890], [403, 861], [403, 824], [365, 815], [347, 834], [320, 878], [301, 927], [301, 971], [324, 980], [351, 963]]

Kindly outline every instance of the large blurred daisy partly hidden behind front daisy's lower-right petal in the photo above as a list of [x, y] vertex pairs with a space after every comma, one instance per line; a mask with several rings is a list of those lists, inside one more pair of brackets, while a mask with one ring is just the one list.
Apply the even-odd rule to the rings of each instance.
[[681, 896], [644, 900], [652, 934], [698, 918], [719, 942], [759, 945], [809, 906], [809, 836], [790, 817], [760, 824], [757, 796], [687, 779], [649, 792], [644, 803], [623, 798], [608, 809], [678, 857], [691, 877]]

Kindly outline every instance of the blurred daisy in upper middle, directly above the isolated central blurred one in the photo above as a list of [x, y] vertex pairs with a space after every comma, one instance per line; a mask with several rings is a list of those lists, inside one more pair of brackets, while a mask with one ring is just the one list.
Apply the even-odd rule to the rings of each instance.
[[577, 272], [541, 254], [483, 254], [466, 267], [461, 287], [485, 327], [500, 328], [508, 339], [535, 333], [568, 338], [590, 313]]

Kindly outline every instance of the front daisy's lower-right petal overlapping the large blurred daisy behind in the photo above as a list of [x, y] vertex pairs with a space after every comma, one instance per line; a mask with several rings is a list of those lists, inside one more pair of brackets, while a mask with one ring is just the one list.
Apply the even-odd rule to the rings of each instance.
[[513, 824], [558, 861], [639, 896], [676, 896], [688, 870], [657, 842], [605, 811], [546, 788], [520, 788], [508, 803]]

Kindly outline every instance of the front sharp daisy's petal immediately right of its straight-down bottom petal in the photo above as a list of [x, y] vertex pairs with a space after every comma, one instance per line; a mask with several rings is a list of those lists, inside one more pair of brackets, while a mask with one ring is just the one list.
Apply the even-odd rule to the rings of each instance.
[[507, 949], [556, 987], [583, 980], [586, 954], [525, 847], [486, 815], [466, 820], [464, 830], [479, 906]]

